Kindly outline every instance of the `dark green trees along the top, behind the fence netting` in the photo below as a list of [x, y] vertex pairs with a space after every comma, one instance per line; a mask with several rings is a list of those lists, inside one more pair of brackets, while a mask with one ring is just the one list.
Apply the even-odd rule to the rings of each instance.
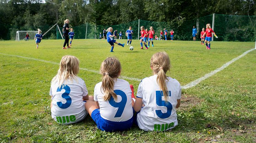
[[256, 15], [255, 0], [0, 0], [0, 39], [55, 23], [118, 25], [137, 19], [172, 22], [210, 15]]

